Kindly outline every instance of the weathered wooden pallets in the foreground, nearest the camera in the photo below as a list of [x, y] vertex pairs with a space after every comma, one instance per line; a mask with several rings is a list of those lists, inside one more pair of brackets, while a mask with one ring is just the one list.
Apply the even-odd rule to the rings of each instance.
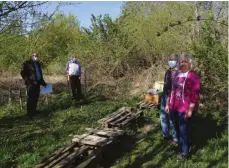
[[117, 129], [89, 130], [87, 134], [75, 135], [70, 146], [44, 159], [36, 168], [87, 167], [106, 146], [124, 134], [124, 131]]

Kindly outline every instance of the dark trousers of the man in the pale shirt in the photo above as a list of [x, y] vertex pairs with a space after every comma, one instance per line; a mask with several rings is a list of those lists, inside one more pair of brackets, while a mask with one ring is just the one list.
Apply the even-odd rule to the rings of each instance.
[[[76, 100], [82, 98], [81, 83], [80, 83], [79, 76], [70, 76], [70, 84], [71, 84], [73, 98], [75, 98]], [[77, 95], [76, 95], [76, 89], [77, 89]]]

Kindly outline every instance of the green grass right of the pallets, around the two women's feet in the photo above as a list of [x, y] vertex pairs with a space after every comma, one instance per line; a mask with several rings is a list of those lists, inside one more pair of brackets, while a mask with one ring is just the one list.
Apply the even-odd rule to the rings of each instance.
[[132, 145], [112, 168], [227, 168], [227, 124], [217, 123], [209, 113], [197, 114], [192, 120], [192, 155], [187, 161], [177, 159], [177, 147], [162, 139], [158, 111], [147, 112], [154, 129], [144, 140]]

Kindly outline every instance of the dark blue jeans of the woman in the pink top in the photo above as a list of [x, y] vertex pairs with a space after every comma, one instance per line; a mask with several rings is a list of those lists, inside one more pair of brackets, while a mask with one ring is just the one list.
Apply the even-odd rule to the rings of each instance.
[[185, 113], [172, 111], [171, 118], [174, 124], [176, 125], [178, 145], [180, 153], [183, 155], [189, 154], [190, 148], [190, 135], [189, 135], [189, 122], [190, 118], [185, 117]]

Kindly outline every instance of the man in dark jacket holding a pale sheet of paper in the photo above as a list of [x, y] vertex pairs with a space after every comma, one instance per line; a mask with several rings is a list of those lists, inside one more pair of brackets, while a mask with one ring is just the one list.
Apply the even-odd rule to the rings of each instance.
[[21, 69], [21, 76], [25, 80], [27, 89], [27, 115], [29, 119], [36, 115], [40, 85], [46, 86], [38, 58], [38, 54], [32, 54], [32, 58], [25, 61]]

